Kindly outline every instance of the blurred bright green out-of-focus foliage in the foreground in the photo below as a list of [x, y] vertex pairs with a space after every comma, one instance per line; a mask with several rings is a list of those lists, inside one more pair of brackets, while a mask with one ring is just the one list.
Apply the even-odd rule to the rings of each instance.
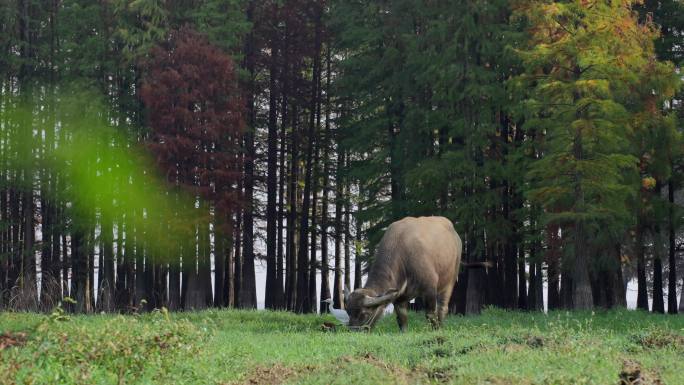
[[196, 213], [196, 196], [158, 175], [144, 144], [130, 137], [130, 127], [115, 127], [117, 117], [97, 96], [66, 93], [49, 103], [25, 98], [1, 112], [3, 151], [16, 175], [22, 169], [59, 175], [59, 189], [48, 199], [68, 202], [72, 230], [88, 229], [95, 216], [125, 218], [126, 226], [144, 229], [136, 237], [147, 250], [163, 257], [192, 239], [198, 222], [208, 226], [209, 218]]

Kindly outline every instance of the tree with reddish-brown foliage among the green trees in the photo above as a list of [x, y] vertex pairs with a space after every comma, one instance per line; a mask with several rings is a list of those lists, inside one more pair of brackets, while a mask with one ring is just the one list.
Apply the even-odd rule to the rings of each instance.
[[[149, 146], [167, 180], [201, 198], [197, 218], [214, 221], [216, 303], [227, 304], [224, 272], [230, 267], [227, 245], [239, 202], [244, 130], [235, 64], [204, 36], [182, 28], [152, 50], [146, 68], [141, 96], [152, 130]], [[212, 301], [206, 223], [199, 221], [190, 244], [181, 248], [184, 284], [180, 293], [178, 274], [169, 279], [172, 307], [174, 300], [185, 308], [203, 308]]]

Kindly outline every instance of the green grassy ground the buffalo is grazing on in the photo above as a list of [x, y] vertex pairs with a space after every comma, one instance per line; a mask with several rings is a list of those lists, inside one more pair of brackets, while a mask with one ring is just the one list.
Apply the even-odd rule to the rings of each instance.
[[[370, 334], [331, 316], [204, 311], [0, 313], [2, 384], [684, 384], [684, 316], [634, 311], [411, 314]], [[629, 383], [629, 382], [625, 382]]]

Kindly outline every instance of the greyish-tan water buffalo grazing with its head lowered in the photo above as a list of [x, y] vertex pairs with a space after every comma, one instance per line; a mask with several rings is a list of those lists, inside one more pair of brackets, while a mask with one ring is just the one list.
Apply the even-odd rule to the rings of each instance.
[[425, 317], [439, 328], [458, 279], [462, 248], [453, 224], [444, 217], [407, 217], [392, 223], [377, 245], [366, 285], [351, 293], [345, 288], [349, 327], [372, 328], [393, 303], [399, 329], [405, 331], [409, 301], [421, 297]]

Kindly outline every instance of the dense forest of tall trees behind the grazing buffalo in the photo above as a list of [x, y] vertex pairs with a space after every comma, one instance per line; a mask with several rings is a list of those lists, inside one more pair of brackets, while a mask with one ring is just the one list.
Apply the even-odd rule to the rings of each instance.
[[684, 311], [683, 33], [677, 0], [3, 1], [0, 310], [255, 308], [255, 263], [266, 308], [342, 307], [443, 215], [493, 264], [453, 312]]

